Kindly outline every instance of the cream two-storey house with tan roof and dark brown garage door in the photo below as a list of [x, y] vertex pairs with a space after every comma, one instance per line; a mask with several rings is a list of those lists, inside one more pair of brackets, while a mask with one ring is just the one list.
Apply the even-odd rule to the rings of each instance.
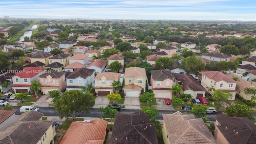
[[[103, 72], [98, 73], [95, 78], [94, 90], [98, 96], [106, 96], [114, 93], [112, 82], [120, 81], [121, 74], [116, 72]], [[121, 82], [122, 84], [122, 82]]]

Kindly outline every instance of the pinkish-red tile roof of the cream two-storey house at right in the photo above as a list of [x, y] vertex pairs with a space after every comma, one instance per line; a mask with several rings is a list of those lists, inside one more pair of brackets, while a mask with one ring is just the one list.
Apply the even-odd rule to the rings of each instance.
[[223, 80], [224, 82], [237, 83], [236, 81], [232, 80], [231, 78], [229, 78], [222, 72], [208, 71], [208, 72], [202, 72], [202, 74], [204, 74], [206, 77], [214, 80], [215, 82], [220, 82]]

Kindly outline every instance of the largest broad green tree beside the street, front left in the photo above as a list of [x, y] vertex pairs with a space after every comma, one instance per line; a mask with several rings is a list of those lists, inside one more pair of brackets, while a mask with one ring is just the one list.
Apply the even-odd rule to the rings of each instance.
[[54, 105], [60, 118], [72, 116], [73, 121], [79, 114], [88, 114], [95, 104], [95, 98], [89, 92], [85, 94], [79, 90], [69, 90], [62, 94], [61, 99]]

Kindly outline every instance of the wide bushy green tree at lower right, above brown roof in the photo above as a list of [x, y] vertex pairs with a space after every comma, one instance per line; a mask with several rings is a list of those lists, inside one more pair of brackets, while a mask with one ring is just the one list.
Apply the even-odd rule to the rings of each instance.
[[225, 113], [231, 117], [249, 118], [255, 121], [253, 118], [253, 110], [250, 110], [250, 107], [247, 105], [235, 104], [227, 106]]

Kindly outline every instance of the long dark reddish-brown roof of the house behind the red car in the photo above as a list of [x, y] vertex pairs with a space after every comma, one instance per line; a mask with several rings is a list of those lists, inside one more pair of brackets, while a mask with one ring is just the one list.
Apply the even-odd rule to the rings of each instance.
[[178, 84], [182, 85], [182, 90], [206, 91], [206, 89], [190, 74], [174, 74]]

